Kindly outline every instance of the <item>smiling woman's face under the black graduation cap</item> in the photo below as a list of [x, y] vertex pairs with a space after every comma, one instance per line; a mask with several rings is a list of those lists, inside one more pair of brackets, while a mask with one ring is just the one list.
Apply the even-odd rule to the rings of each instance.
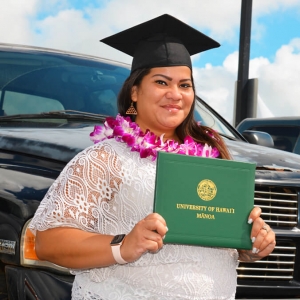
[[132, 88], [135, 122], [145, 132], [175, 138], [175, 129], [186, 118], [194, 101], [191, 70], [186, 66], [152, 68], [139, 87]]

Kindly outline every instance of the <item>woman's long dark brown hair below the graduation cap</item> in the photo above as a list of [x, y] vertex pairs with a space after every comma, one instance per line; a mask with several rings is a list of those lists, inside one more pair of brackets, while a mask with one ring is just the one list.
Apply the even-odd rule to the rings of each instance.
[[[118, 95], [118, 111], [121, 116], [130, 116], [132, 121], [135, 121], [134, 115], [126, 115], [127, 109], [130, 107], [131, 92], [133, 86], [139, 86], [142, 79], [150, 73], [150, 68], [137, 69], [133, 71], [130, 76], [125, 80], [123, 87]], [[192, 76], [193, 90], [194, 88], [194, 79]], [[196, 95], [196, 94], [195, 94]], [[178, 138], [183, 142], [186, 136], [191, 136], [193, 140], [197, 143], [206, 143], [212, 147], [216, 147], [220, 152], [220, 157], [225, 159], [230, 159], [231, 156], [229, 151], [222, 139], [222, 137], [213, 129], [207, 126], [199, 126], [196, 120], [194, 119], [194, 109], [196, 103], [196, 96], [191, 107], [191, 110], [185, 120], [176, 128], [176, 134]], [[135, 103], [133, 103], [135, 106]]]

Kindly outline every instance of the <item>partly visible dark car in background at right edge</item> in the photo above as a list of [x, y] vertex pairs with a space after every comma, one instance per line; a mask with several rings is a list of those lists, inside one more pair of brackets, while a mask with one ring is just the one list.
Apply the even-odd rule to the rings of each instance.
[[272, 137], [274, 148], [300, 154], [299, 117], [246, 118], [236, 129], [246, 138], [249, 131], [266, 132]]

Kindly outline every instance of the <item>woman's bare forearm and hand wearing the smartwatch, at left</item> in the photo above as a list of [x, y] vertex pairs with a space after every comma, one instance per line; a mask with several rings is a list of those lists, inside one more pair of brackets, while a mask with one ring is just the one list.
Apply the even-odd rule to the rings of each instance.
[[[159, 250], [163, 246], [166, 232], [165, 220], [160, 215], [148, 215], [125, 237], [121, 246], [122, 258], [132, 262], [146, 251]], [[110, 246], [112, 238], [112, 235], [68, 227], [37, 231], [36, 253], [41, 260], [67, 268], [106, 267], [116, 263]]]

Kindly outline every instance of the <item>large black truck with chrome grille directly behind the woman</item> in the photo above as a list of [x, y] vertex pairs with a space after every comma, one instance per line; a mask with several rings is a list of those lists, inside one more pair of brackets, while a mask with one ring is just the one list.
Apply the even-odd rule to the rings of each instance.
[[[130, 66], [98, 57], [0, 44], [0, 298], [70, 299], [74, 277], [40, 261], [28, 230], [64, 166], [116, 115]], [[224, 137], [235, 160], [254, 162], [255, 205], [275, 230], [274, 252], [237, 268], [237, 298], [300, 295], [300, 156], [248, 143], [197, 98], [196, 118]]]

